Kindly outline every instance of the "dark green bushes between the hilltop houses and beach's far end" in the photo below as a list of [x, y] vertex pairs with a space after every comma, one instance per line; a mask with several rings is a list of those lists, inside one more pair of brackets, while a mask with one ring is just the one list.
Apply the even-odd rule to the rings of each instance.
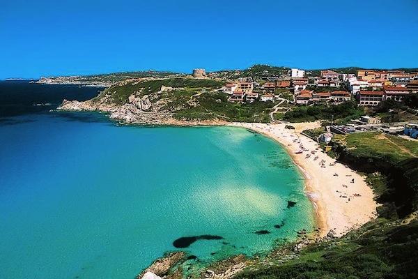
[[350, 119], [358, 119], [364, 114], [362, 107], [357, 103], [348, 101], [339, 105], [314, 105], [294, 107], [293, 110], [286, 112], [285, 121], [290, 122], [307, 122], [316, 120], [331, 121], [334, 117], [334, 123], [346, 123]]

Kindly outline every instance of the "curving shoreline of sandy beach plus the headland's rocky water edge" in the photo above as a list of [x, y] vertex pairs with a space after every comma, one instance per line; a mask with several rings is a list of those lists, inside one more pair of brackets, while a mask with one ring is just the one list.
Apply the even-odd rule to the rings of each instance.
[[[336, 160], [327, 156], [323, 149], [314, 140], [301, 134], [302, 130], [316, 128], [318, 122], [293, 123], [295, 130], [284, 128], [284, 123], [245, 123], [227, 122], [219, 119], [208, 121], [187, 121], [174, 119], [171, 114], [155, 114], [155, 112], [132, 113], [125, 110], [117, 110], [112, 105], [93, 105], [90, 101], [66, 101], [58, 107], [58, 111], [89, 111], [105, 112], [109, 119], [117, 121], [119, 125], [126, 126], [231, 126], [253, 130], [274, 140], [288, 152], [293, 163], [299, 167], [304, 176], [304, 191], [315, 209], [316, 231], [318, 236], [324, 238], [330, 236], [343, 236], [352, 229], [356, 229], [369, 220], [376, 218], [377, 202], [374, 200], [373, 190], [367, 186], [364, 177], [357, 174]], [[309, 151], [296, 154], [304, 146]], [[309, 152], [314, 152], [305, 158]], [[320, 167], [318, 163], [323, 162]], [[334, 164], [334, 165], [330, 165]], [[330, 170], [331, 169], [331, 170]], [[338, 174], [338, 176], [334, 176]], [[354, 179], [353, 181], [351, 181]]]

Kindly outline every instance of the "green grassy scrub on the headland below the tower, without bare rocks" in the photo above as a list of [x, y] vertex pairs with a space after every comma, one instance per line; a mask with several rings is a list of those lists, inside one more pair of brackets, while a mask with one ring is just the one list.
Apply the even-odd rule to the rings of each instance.
[[[268, 122], [268, 116], [271, 102], [256, 101], [252, 104], [237, 104], [228, 102], [229, 96], [226, 93], [214, 91], [218, 89], [224, 82], [217, 80], [195, 80], [187, 78], [170, 78], [164, 80], [148, 80], [143, 82], [127, 82], [126, 84], [118, 84], [111, 86], [103, 91], [96, 100], [100, 100], [103, 96], [111, 93], [111, 102], [118, 105], [127, 103], [127, 99], [132, 93], [138, 96], [144, 96], [155, 93], [160, 90], [161, 86], [174, 87], [173, 91], [164, 91], [157, 95], [156, 100], [167, 100], [165, 109], [173, 112], [173, 116], [177, 119], [193, 120], [193, 119], [222, 119], [226, 121], [251, 121], [251, 122]], [[187, 102], [192, 95], [201, 93], [201, 95], [193, 97], [192, 101], [197, 105], [189, 105]]]

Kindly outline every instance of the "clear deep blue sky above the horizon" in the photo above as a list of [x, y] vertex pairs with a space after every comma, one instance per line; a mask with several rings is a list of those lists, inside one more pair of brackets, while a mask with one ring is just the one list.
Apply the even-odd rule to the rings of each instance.
[[0, 79], [254, 63], [418, 67], [418, 0], [0, 2]]

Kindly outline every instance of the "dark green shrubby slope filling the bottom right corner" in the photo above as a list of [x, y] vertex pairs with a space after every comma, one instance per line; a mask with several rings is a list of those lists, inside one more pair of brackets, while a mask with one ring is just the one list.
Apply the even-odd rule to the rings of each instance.
[[247, 269], [237, 279], [417, 278], [418, 221], [373, 221], [342, 239], [312, 244], [284, 264]]

